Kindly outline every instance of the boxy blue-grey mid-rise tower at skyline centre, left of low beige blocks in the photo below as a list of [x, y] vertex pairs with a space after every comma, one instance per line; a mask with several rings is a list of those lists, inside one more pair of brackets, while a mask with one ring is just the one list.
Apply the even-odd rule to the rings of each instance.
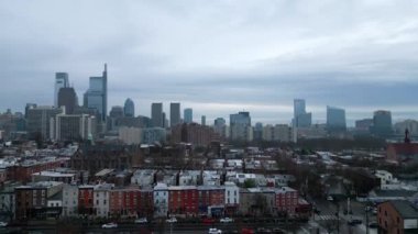
[[250, 112], [230, 114], [230, 137], [233, 141], [252, 141], [253, 131], [251, 127]]

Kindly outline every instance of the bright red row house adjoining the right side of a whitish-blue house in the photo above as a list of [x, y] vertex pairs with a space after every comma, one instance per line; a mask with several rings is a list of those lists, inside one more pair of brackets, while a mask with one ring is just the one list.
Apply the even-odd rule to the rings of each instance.
[[168, 187], [168, 213], [195, 216], [198, 213], [198, 191], [196, 186]]

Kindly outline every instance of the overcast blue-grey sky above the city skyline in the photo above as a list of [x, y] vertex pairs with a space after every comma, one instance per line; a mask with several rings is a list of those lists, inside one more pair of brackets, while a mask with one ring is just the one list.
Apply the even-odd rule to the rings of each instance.
[[53, 104], [56, 71], [82, 100], [109, 71], [109, 110], [127, 98], [193, 108], [208, 121], [246, 110], [288, 123], [304, 98], [346, 118], [418, 119], [417, 1], [1, 1], [0, 112]]

